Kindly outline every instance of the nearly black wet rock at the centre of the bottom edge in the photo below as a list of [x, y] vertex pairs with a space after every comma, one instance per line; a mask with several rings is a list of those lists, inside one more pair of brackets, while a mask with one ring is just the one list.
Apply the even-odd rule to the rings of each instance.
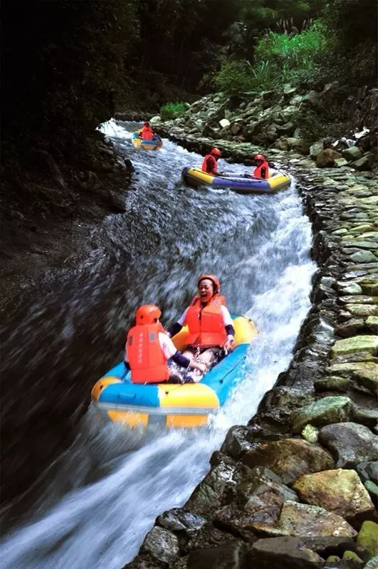
[[244, 569], [245, 554], [241, 541], [229, 541], [189, 554], [188, 569]]

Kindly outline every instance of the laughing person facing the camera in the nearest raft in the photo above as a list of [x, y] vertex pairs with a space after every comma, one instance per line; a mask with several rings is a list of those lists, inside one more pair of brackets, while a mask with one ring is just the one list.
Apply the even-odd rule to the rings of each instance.
[[167, 333], [172, 336], [188, 325], [189, 337], [187, 349], [183, 355], [193, 360], [211, 365], [221, 354], [221, 350], [230, 352], [233, 347], [235, 331], [233, 320], [224, 306], [224, 299], [219, 295], [220, 283], [214, 275], [202, 275], [198, 280], [198, 296], [184, 311]]

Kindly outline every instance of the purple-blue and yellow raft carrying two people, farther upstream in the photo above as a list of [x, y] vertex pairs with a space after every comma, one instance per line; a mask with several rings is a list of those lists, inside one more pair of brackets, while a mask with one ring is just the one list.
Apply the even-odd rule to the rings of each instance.
[[243, 174], [229, 176], [212, 176], [202, 172], [200, 168], [184, 168], [182, 179], [189, 186], [211, 186], [215, 189], [229, 188], [238, 194], [273, 194], [290, 185], [291, 179], [285, 172], [273, 170], [268, 179], [245, 177]]

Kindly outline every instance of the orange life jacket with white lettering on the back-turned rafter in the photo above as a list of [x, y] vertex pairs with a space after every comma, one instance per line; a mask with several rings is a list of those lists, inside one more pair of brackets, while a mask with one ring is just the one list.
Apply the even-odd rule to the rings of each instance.
[[127, 359], [133, 383], [159, 383], [169, 379], [167, 360], [159, 344], [161, 323], [136, 325], [127, 334]]

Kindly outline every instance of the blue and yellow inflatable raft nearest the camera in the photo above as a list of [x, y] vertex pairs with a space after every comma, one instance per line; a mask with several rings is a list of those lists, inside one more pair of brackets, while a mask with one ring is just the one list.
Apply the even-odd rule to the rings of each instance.
[[[244, 316], [233, 316], [235, 348], [207, 372], [199, 383], [135, 384], [120, 362], [95, 384], [92, 401], [99, 419], [130, 427], [205, 427], [226, 401], [231, 388], [243, 377], [248, 345], [257, 335], [256, 325]], [[187, 327], [172, 338], [178, 350], [185, 346]]]

